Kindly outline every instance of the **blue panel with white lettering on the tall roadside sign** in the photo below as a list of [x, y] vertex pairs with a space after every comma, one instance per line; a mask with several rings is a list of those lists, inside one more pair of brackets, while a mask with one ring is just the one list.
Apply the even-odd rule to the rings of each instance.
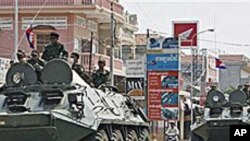
[[178, 70], [178, 54], [147, 54], [147, 69], [155, 71]]

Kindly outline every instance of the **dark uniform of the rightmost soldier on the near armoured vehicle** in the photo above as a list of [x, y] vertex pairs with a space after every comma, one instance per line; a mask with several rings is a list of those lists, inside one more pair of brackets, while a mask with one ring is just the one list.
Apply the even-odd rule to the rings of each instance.
[[109, 71], [107, 70], [96, 70], [92, 74], [92, 82], [95, 87], [98, 88], [102, 84], [107, 84], [109, 82]]

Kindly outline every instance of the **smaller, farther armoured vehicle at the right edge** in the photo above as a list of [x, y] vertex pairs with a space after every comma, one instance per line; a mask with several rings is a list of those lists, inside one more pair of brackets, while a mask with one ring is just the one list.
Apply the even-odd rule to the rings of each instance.
[[192, 141], [229, 141], [230, 126], [250, 124], [249, 115], [245, 92], [235, 90], [227, 100], [219, 90], [211, 90], [202, 118], [191, 126]]

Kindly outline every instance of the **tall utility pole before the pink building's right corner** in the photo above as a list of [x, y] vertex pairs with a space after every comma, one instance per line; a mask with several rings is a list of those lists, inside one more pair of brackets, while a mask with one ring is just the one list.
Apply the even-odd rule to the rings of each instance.
[[114, 86], [114, 11], [113, 1], [111, 2], [111, 44], [110, 44], [110, 75], [111, 75], [111, 86]]

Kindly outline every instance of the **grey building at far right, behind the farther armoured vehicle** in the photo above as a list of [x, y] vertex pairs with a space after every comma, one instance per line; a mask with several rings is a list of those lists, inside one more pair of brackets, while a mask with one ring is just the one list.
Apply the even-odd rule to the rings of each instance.
[[250, 82], [250, 58], [244, 55], [220, 55], [226, 69], [219, 71], [219, 88], [230, 91]]

